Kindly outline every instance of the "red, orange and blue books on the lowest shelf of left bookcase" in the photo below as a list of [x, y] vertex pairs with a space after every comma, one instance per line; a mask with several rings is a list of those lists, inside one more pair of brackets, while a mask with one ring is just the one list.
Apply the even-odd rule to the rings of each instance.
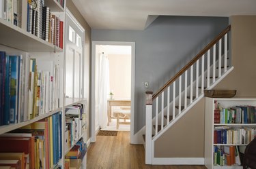
[[18, 160], [16, 168], [53, 168], [62, 157], [61, 112], [1, 134], [0, 152], [0, 159]]

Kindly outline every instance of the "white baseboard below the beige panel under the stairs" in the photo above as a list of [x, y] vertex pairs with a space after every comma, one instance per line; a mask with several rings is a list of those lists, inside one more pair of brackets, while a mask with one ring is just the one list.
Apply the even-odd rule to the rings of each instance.
[[204, 165], [203, 157], [153, 158], [152, 165]]

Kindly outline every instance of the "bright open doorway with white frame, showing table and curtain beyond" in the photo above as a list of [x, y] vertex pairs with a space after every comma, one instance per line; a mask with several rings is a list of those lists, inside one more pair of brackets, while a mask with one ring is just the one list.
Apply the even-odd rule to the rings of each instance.
[[[132, 140], [134, 135], [134, 45], [134, 42], [92, 41], [91, 142], [96, 141], [96, 134], [100, 128], [130, 130], [130, 140]], [[102, 61], [104, 59], [106, 60]], [[106, 70], [102, 71], [106, 67], [102, 66], [104, 62], [109, 66], [107, 69], [109, 73], [106, 73]], [[109, 78], [105, 78], [108, 75]], [[102, 81], [109, 84], [104, 86], [103, 90]], [[104, 91], [103, 95], [102, 91]], [[103, 97], [105, 97], [104, 105], [100, 100]], [[109, 117], [112, 118], [109, 119]]]

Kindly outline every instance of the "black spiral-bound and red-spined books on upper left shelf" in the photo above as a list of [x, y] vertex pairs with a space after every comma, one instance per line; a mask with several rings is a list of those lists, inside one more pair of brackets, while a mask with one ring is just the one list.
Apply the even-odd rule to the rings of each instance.
[[27, 31], [63, 48], [63, 21], [44, 5], [44, 0], [27, 1]]

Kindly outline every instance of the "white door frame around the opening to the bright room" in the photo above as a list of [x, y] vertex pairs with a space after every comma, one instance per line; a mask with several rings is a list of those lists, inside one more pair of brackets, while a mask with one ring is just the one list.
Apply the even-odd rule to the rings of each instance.
[[96, 90], [96, 45], [129, 45], [132, 48], [131, 107], [130, 107], [130, 143], [134, 140], [134, 80], [135, 80], [135, 42], [92, 41], [91, 42], [91, 142], [96, 142], [95, 126], [95, 90]]

